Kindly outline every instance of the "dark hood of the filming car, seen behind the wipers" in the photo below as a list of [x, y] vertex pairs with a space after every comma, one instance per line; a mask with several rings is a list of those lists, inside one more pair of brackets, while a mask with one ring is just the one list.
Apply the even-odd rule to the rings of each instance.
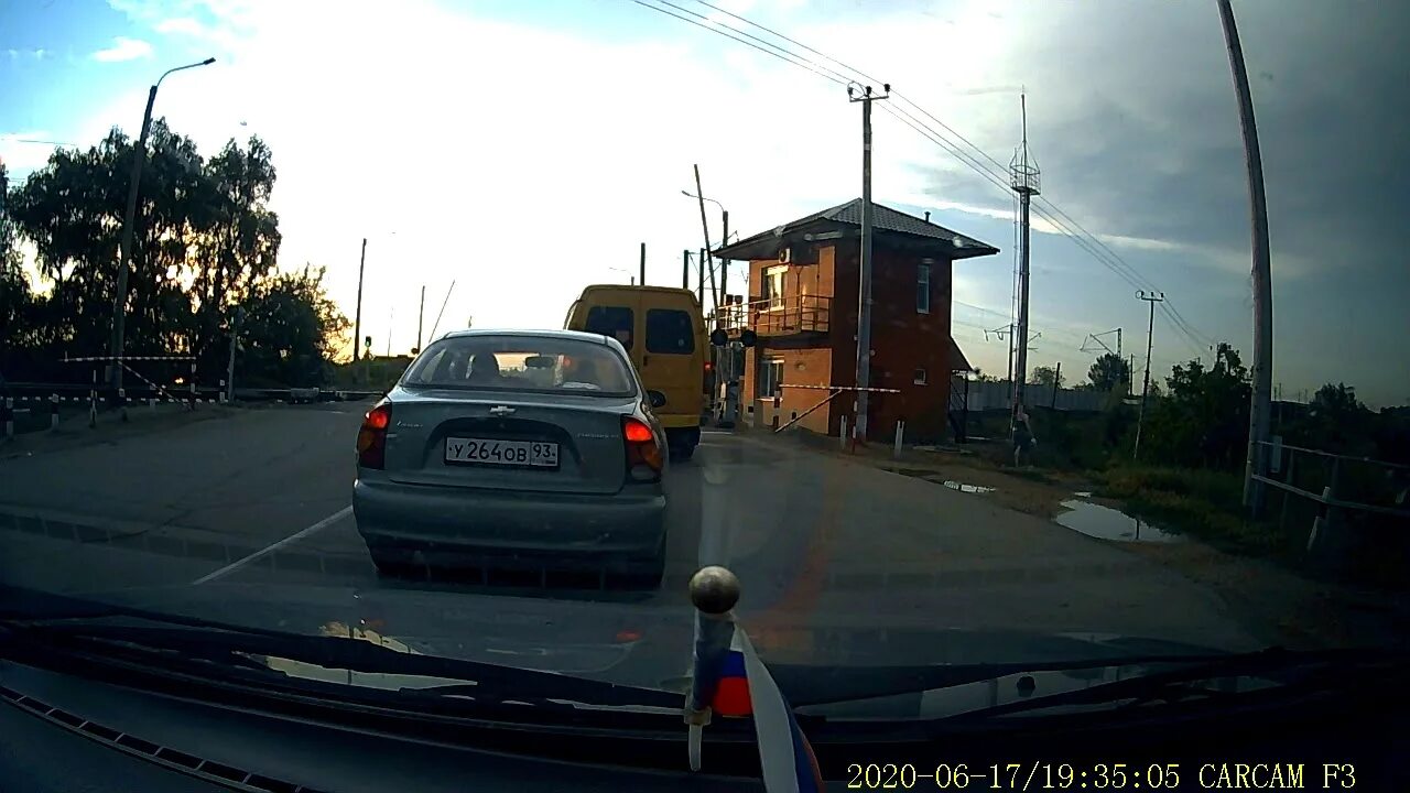
[[[644, 595], [564, 600], [527, 594], [470, 594], [427, 587], [355, 588], [206, 584], [137, 588], [85, 600], [300, 635], [350, 636], [398, 652], [534, 669], [684, 691], [689, 684], [692, 608], [643, 603]], [[798, 703], [852, 700], [823, 707], [829, 715], [915, 718], [962, 713], [1012, 696], [1056, 693], [1144, 673], [1138, 656], [1208, 656], [1213, 648], [1114, 634], [1039, 634], [959, 628], [859, 628], [767, 625], [747, 615], [749, 632], [784, 694]], [[1055, 662], [1081, 669], [1045, 669]], [[327, 670], [271, 659], [295, 676], [327, 679]], [[960, 676], [942, 686], [936, 669], [1003, 665], [994, 676]], [[1017, 682], [1028, 680], [1024, 686]], [[341, 677], [338, 677], [341, 679]], [[361, 676], [367, 686], [406, 686], [405, 676]], [[1035, 683], [1036, 687], [1029, 686]]]

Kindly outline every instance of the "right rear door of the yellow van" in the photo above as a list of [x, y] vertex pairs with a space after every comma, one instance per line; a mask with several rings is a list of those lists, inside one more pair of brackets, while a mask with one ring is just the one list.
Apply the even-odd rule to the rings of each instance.
[[[698, 426], [704, 350], [698, 346], [695, 312], [663, 301], [644, 309], [640, 353], [642, 381], [666, 394], [657, 409], [667, 426]], [[675, 419], [674, 422], [670, 419]]]

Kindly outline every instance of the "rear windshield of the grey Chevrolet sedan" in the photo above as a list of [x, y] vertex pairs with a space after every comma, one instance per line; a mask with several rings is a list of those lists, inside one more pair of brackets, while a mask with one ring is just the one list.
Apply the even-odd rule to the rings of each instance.
[[412, 361], [403, 387], [634, 396], [627, 363], [605, 344], [550, 336], [441, 339]]

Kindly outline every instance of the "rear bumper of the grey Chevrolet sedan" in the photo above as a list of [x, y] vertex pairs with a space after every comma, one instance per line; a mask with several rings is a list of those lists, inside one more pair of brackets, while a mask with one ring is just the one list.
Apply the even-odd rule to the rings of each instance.
[[634, 567], [661, 549], [666, 495], [519, 494], [360, 477], [352, 515], [368, 546], [419, 549], [467, 564]]

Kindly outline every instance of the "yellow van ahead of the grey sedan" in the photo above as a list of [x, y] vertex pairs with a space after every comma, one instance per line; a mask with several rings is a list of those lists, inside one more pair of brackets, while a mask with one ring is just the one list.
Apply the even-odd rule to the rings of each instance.
[[706, 416], [705, 375], [709, 339], [699, 301], [689, 289], [595, 284], [568, 309], [567, 330], [612, 336], [626, 347], [649, 391], [666, 404], [656, 416], [671, 457], [688, 460], [701, 442]]

